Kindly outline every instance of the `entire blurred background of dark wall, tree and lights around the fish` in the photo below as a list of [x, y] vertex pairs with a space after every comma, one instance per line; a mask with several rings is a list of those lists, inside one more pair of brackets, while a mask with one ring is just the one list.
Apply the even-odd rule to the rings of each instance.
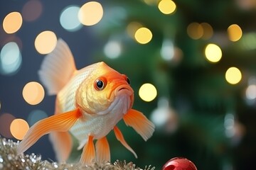
[[[40, 33], [50, 30], [53, 40], [46, 38], [39, 45], [63, 38], [78, 69], [105, 61], [127, 74], [134, 89], [134, 108], [156, 125], [153, 137], [144, 142], [121, 121], [118, 126], [139, 158], [110, 132], [112, 162], [125, 159], [140, 167], [151, 164], [161, 169], [173, 157], [186, 157], [198, 169], [254, 167], [255, 0], [97, 1], [103, 16], [92, 26], [75, 22], [79, 8], [87, 2], [0, 1], [1, 136], [18, 139], [9, 128], [16, 118], [31, 126], [54, 113], [55, 96], [48, 96], [47, 91], [37, 104], [26, 102], [23, 94], [28, 82], [41, 84], [37, 72], [47, 52], [38, 52], [35, 41]], [[19, 13], [22, 22], [18, 17], [8, 20], [12, 12]], [[141, 42], [139, 28], [147, 28], [152, 37], [142, 32]], [[230, 67], [236, 72], [228, 72]], [[157, 91], [148, 102], [139, 96], [145, 83]], [[27, 153], [55, 161], [48, 135]], [[74, 151], [71, 157], [78, 156]]]

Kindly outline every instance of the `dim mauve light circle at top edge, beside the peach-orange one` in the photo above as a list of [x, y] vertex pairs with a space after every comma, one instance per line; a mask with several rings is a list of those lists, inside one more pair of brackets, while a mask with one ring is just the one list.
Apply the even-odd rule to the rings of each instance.
[[21, 14], [23, 16], [24, 21], [36, 21], [37, 18], [41, 16], [43, 11], [43, 5], [41, 1], [33, 0], [27, 1], [23, 6]]

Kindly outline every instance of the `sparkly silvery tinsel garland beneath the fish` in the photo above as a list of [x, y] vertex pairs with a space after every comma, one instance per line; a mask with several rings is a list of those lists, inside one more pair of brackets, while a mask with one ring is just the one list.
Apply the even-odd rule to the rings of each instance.
[[[0, 169], [11, 170], [11, 169], [64, 169], [64, 170], [142, 170], [135, 166], [132, 162], [126, 163], [116, 161], [114, 164], [106, 162], [105, 164], [94, 163], [90, 166], [82, 165], [79, 163], [75, 164], [59, 164], [56, 162], [48, 162], [41, 159], [41, 155], [36, 154], [16, 154], [16, 148], [18, 142], [13, 142], [12, 140], [6, 140], [0, 136]], [[146, 166], [144, 170], [154, 170], [154, 167]]]

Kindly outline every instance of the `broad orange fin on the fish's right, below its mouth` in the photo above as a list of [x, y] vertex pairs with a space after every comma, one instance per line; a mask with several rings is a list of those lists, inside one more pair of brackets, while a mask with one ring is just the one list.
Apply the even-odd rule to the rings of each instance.
[[146, 118], [145, 115], [143, 115], [143, 113], [131, 109], [123, 118], [124, 123], [134, 128], [134, 130], [139, 133], [145, 141], [153, 135], [155, 126]]

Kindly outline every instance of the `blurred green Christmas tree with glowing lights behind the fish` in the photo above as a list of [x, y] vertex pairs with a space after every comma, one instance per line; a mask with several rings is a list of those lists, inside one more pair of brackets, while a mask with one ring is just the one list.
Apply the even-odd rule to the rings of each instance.
[[[251, 167], [255, 1], [112, 0], [103, 6], [95, 31], [105, 47], [96, 59], [131, 77], [134, 108], [156, 124], [144, 147], [126, 132], [139, 152], [134, 162], [160, 169], [183, 156], [198, 169]], [[139, 28], [149, 31], [142, 39]], [[158, 91], [150, 103], [137, 93], [145, 83]]]

